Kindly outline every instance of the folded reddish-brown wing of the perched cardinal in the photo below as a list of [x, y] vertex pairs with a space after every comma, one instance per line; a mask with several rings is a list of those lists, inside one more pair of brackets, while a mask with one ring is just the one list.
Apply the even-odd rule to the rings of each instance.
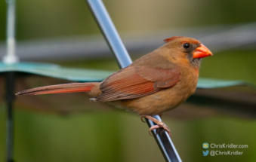
[[100, 84], [97, 101], [133, 99], [173, 87], [180, 81], [178, 69], [155, 69], [129, 66], [110, 75]]

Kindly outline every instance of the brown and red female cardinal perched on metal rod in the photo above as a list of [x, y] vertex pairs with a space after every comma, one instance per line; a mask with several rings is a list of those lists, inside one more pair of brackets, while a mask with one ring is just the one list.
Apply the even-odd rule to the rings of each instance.
[[149, 132], [162, 127], [171, 136], [169, 127], [153, 115], [176, 108], [195, 93], [202, 58], [213, 54], [195, 38], [175, 36], [164, 41], [162, 47], [101, 82], [36, 87], [16, 95], [86, 92], [92, 96], [91, 101], [109, 102], [155, 122]]

